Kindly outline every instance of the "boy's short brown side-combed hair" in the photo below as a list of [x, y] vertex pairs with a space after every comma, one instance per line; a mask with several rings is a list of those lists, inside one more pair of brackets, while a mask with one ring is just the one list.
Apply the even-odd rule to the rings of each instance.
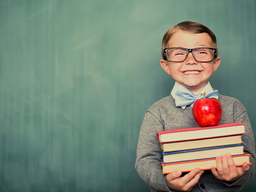
[[[168, 48], [167, 44], [168, 44], [169, 40], [179, 30], [185, 31], [188, 33], [207, 33], [212, 40], [213, 47], [211, 47], [211, 48], [217, 49], [217, 53], [214, 55], [215, 58], [217, 57], [217, 54], [218, 54], [217, 40], [216, 40], [216, 36], [214, 35], [213, 31], [211, 31], [208, 27], [204, 26], [203, 24], [201, 24], [199, 22], [183, 21], [183, 22], [180, 22], [177, 25], [173, 26], [172, 28], [170, 28], [164, 34], [164, 37], [162, 40], [162, 57], [164, 60], [167, 60], [167, 58], [166, 58], [166, 55], [164, 55], [163, 50], [164, 50], [164, 48]], [[186, 48], [188, 48], [188, 47], [186, 47]], [[193, 48], [193, 47], [189, 47], [189, 48]]]

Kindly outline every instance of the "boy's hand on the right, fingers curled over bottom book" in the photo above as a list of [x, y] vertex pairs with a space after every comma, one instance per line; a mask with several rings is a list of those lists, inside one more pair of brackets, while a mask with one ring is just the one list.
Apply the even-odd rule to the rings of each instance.
[[223, 181], [232, 182], [240, 178], [246, 171], [250, 169], [247, 163], [237, 167], [230, 154], [216, 157], [217, 170], [212, 167], [211, 172], [213, 175]]

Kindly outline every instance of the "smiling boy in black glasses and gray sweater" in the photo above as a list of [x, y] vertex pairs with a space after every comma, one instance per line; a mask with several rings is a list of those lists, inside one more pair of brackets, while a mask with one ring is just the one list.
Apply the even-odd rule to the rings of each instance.
[[[176, 92], [185, 89], [194, 94], [213, 92], [209, 78], [218, 69], [214, 33], [194, 21], [185, 21], [170, 28], [163, 37], [160, 65], [176, 82], [169, 97], [153, 104], [145, 113], [138, 139], [135, 168], [149, 185], [150, 191], [233, 192], [240, 191], [243, 183], [255, 172], [254, 135], [246, 109], [239, 100], [218, 94], [223, 107], [220, 124], [246, 123], [247, 134], [242, 135], [244, 152], [251, 154], [252, 165], [236, 167], [230, 154], [216, 157], [217, 169], [189, 173], [175, 171], [163, 175], [161, 149], [156, 132], [199, 126], [192, 116], [191, 104], [180, 104]], [[175, 104], [176, 102], [176, 104]]]

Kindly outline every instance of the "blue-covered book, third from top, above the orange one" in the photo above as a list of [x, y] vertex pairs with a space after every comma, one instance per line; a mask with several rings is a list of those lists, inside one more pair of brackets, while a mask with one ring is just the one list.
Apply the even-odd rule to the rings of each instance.
[[163, 163], [213, 158], [229, 152], [231, 155], [244, 154], [244, 144], [205, 147], [173, 152], [162, 152]]

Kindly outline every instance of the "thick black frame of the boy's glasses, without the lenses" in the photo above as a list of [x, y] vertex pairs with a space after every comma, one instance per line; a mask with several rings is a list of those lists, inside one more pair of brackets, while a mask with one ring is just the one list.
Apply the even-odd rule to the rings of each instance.
[[[187, 55], [186, 55], [185, 59], [183, 59], [182, 61], [170, 61], [170, 60], [168, 59], [167, 51], [170, 50], [170, 49], [175, 49], [175, 48], [180, 48], [180, 49], [183, 49], [183, 50], [187, 50]], [[213, 58], [211, 59], [211, 61], [198, 61], [197, 59], [195, 59], [194, 50], [201, 49], [201, 48], [211, 49], [211, 50], [214, 51], [214, 53], [213, 53]], [[214, 59], [214, 57], [215, 57], [215, 58], [217, 57], [217, 49], [216, 49], [216, 48], [209, 48], [209, 47], [197, 47], [197, 48], [170, 47], [170, 48], [164, 48], [164, 49], [163, 49], [164, 60], [167, 59], [167, 61], [169, 61], [169, 62], [183, 62], [183, 61], [185, 61], [185, 60], [187, 59], [187, 56], [188, 56], [188, 54], [189, 54], [190, 52], [192, 53], [192, 55], [193, 55], [195, 61], [197, 61], [197, 62], [205, 62], [205, 63], [207, 63], [207, 62], [212, 62], [213, 59]], [[166, 58], [166, 59], [165, 59], [165, 58]]]

